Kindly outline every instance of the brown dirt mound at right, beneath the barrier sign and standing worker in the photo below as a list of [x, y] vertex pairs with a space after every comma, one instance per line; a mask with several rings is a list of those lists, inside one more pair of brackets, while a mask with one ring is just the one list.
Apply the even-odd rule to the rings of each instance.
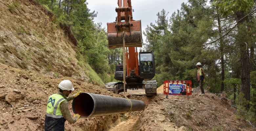
[[189, 99], [182, 95], [169, 95], [166, 99], [165, 95], [158, 94], [142, 112], [140, 131], [255, 130], [236, 114], [229, 99], [205, 92], [204, 96], [199, 96], [201, 92], [195, 90]]

